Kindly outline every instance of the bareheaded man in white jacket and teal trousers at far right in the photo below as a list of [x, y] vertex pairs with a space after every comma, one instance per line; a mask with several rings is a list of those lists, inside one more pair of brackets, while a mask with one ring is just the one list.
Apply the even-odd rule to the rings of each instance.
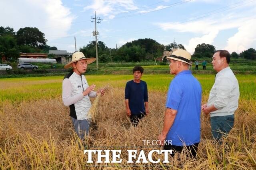
[[238, 108], [239, 86], [229, 67], [230, 53], [218, 50], [212, 57], [213, 69], [218, 73], [209, 94], [207, 104], [202, 105], [206, 115], [210, 113], [212, 136], [220, 141], [234, 125], [234, 112]]

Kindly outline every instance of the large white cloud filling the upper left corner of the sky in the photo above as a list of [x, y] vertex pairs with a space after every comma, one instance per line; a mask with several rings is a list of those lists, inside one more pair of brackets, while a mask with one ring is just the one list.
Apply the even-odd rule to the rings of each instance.
[[61, 0], [2, 1], [0, 16], [4, 16], [0, 18], [2, 26], [13, 27], [15, 31], [23, 27], [38, 27], [48, 40], [66, 36], [75, 18]]

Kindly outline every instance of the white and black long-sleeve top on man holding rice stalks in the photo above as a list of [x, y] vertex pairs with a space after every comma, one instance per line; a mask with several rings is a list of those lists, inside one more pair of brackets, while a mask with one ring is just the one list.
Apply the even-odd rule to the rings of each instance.
[[75, 72], [70, 72], [62, 82], [62, 101], [70, 107], [70, 116], [77, 120], [89, 119], [88, 112], [92, 106], [89, 97], [96, 97], [96, 92], [84, 96], [83, 91], [88, 88], [84, 75], [82, 78]]

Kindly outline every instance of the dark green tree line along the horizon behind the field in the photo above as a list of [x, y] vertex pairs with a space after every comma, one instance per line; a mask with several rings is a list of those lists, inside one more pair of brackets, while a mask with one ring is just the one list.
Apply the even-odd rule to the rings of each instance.
[[[0, 57], [6, 56], [9, 60], [15, 60], [22, 53], [48, 53], [49, 50], [57, 50], [56, 47], [46, 45], [44, 33], [36, 27], [20, 28], [17, 32], [11, 27], [0, 27]], [[86, 57], [96, 57], [95, 41], [90, 41], [88, 45], [79, 50]], [[164, 49], [171, 51], [175, 49], [185, 49], [182, 44], [170, 43], [162, 45], [154, 39], [145, 38], [132, 42], [127, 42], [119, 48], [108, 48], [102, 41], [98, 41], [98, 59], [100, 63], [106, 62], [140, 62], [154, 61], [163, 56]], [[216, 51], [213, 45], [202, 43], [195, 48], [192, 57], [211, 58]], [[242, 57], [245, 59], [256, 59], [256, 51], [250, 48], [242, 53], [231, 53], [232, 58]]]

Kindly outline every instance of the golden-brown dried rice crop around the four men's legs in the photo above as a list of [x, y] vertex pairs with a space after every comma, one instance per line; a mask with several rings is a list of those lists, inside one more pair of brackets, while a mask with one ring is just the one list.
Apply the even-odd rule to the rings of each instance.
[[[208, 96], [203, 96], [206, 102]], [[111, 95], [100, 98], [87, 146], [143, 146], [142, 140], [154, 140], [162, 130], [166, 96], [149, 93], [150, 114], [137, 128], [130, 127], [125, 114], [124, 89], [114, 88]], [[69, 108], [61, 98], [34, 102], [9, 103], [0, 106], [1, 169], [90, 169], [83, 154], [85, 143], [76, 137]], [[182, 153], [170, 158], [170, 164], [147, 169], [256, 169], [256, 102], [240, 100], [234, 129], [224, 145], [212, 141], [209, 117], [202, 116], [202, 141], [196, 160]], [[150, 149], [144, 149], [147, 153]], [[121, 154], [122, 165], [128, 159]], [[94, 159], [95, 156], [94, 156]], [[116, 164], [117, 165], [117, 164]], [[174, 165], [173, 167], [170, 165]], [[104, 169], [105, 167], [91, 167]], [[144, 169], [145, 167], [108, 167], [105, 169]]]

